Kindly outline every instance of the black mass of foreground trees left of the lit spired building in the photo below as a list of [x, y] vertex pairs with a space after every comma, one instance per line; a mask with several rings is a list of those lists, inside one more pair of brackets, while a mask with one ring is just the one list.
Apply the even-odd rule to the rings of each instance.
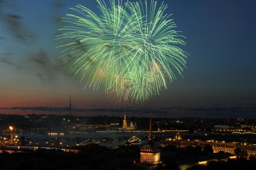
[[138, 148], [111, 150], [99, 145], [80, 148], [80, 153], [61, 150], [37, 150], [31, 153], [0, 154], [0, 169], [135, 169], [133, 160], [139, 157]]

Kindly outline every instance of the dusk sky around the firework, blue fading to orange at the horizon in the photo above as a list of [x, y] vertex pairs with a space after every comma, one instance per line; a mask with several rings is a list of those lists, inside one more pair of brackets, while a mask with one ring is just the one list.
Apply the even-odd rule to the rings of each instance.
[[[154, 109], [170, 117], [255, 118], [256, 1], [163, 2], [186, 36], [187, 68], [160, 96], [131, 106], [130, 115]], [[0, 0], [0, 114], [64, 113], [70, 94], [74, 113], [123, 114], [103, 90], [84, 90], [84, 83], [69, 76], [58, 60], [59, 18], [73, 13], [68, 8], [77, 4], [98, 13], [94, 0]]]

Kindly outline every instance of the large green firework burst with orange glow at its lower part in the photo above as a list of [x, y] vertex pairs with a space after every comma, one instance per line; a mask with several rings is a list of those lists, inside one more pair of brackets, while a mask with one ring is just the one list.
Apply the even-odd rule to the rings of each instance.
[[[76, 5], [56, 39], [64, 63], [86, 87], [105, 87], [123, 101], [144, 102], [181, 74], [187, 53], [167, 6], [157, 2], [97, 0], [100, 14]], [[159, 7], [157, 7], [159, 6]]]

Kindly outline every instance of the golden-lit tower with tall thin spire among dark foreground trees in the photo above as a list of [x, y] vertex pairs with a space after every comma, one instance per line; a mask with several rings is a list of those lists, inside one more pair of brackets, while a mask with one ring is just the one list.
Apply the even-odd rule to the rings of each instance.
[[150, 128], [148, 135], [148, 144], [141, 148], [141, 157], [138, 165], [143, 169], [154, 169], [161, 165], [161, 152], [160, 149], [154, 145], [152, 136], [152, 118], [150, 115]]

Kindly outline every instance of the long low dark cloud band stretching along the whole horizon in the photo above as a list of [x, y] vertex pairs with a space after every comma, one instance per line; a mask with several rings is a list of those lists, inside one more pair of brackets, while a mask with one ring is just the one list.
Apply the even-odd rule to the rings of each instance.
[[[35, 113], [63, 114], [69, 112], [69, 107], [12, 107], [0, 108], [5, 110], [34, 111]], [[124, 108], [72, 108], [76, 115], [123, 115]], [[153, 113], [154, 117], [194, 117], [194, 118], [256, 118], [256, 106], [243, 107], [211, 107], [211, 108], [127, 108], [129, 116], [147, 116]]]

